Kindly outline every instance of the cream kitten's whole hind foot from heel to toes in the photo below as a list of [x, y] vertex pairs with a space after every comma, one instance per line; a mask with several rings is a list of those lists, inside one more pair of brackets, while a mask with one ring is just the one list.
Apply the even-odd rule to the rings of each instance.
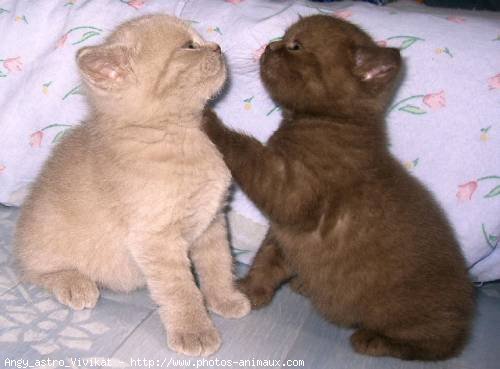
[[92, 309], [99, 298], [96, 283], [77, 270], [35, 275], [28, 281], [51, 291], [61, 304], [75, 310]]

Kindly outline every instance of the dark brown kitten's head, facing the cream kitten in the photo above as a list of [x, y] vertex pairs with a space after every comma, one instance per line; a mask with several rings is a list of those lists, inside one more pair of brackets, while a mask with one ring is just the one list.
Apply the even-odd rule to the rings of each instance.
[[286, 110], [349, 117], [383, 112], [400, 65], [397, 49], [379, 47], [349, 22], [315, 15], [267, 46], [261, 77]]

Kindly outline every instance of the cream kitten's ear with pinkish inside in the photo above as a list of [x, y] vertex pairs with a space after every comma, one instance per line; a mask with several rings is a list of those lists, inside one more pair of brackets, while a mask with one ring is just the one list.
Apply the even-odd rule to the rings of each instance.
[[122, 89], [133, 76], [130, 51], [123, 45], [84, 47], [76, 60], [88, 84], [100, 90]]

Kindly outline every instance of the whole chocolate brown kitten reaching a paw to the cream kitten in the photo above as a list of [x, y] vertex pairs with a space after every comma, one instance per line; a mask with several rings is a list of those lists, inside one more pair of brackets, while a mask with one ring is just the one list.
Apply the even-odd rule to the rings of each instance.
[[357, 352], [440, 360], [466, 342], [473, 289], [439, 206], [387, 150], [400, 65], [348, 22], [304, 18], [261, 59], [284, 112], [267, 145], [211, 112], [204, 129], [271, 222], [241, 281], [254, 308], [293, 278], [325, 318], [357, 328]]

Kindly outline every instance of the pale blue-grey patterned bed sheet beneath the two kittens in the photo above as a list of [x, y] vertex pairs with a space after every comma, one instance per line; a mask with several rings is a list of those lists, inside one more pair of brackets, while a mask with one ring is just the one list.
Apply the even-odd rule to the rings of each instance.
[[[351, 330], [323, 321], [305, 298], [288, 287], [279, 291], [270, 307], [253, 311], [244, 319], [213, 316], [223, 344], [219, 352], [207, 359], [212, 362], [177, 355], [166, 346], [156, 306], [145, 289], [128, 295], [104, 290], [93, 310], [73, 311], [45, 291], [20, 283], [11, 254], [18, 212], [0, 206], [0, 368], [14, 367], [10, 360], [16, 359], [24, 360], [20, 367], [36, 367], [36, 360], [50, 364], [41, 368], [145, 368], [174, 364], [180, 368], [199, 364], [210, 368], [216, 367], [215, 359], [219, 364], [222, 360], [254, 359], [254, 364], [256, 360], [303, 360], [304, 365], [298, 367], [308, 369], [499, 367], [500, 283], [476, 289], [478, 309], [472, 340], [460, 357], [446, 362], [403, 362], [355, 354], [348, 343]], [[239, 272], [244, 273], [243, 268]], [[49, 358], [62, 361], [48, 363]], [[90, 358], [95, 361], [87, 365], [71, 361]], [[103, 360], [105, 365], [94, 365]], [[247, 364], [232, 367], [252, 367], [251, 361]]]

